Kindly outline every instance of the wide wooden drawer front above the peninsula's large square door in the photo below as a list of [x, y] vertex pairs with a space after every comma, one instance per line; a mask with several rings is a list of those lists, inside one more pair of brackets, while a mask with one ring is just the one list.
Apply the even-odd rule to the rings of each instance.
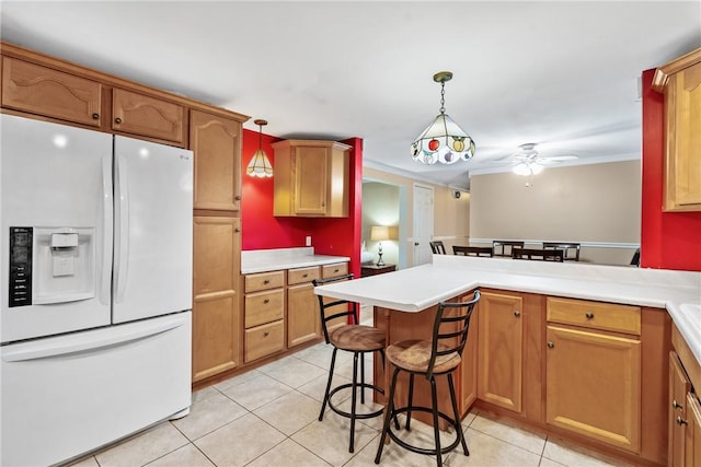
[[639, 306], [548, 297], [548, 322], [640, 335]]

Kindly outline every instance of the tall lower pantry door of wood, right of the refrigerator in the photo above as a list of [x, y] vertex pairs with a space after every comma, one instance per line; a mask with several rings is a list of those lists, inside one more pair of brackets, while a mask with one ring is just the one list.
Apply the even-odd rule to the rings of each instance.
[[241, 220], [194, 218], [193, 382], [241, 363]]

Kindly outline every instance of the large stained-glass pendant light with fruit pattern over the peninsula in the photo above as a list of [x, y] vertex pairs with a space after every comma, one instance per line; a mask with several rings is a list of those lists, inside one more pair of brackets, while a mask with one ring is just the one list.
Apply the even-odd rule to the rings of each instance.
[[474, 141], [446, 114], [446, 81], [452, 79], [452, 72], [440, 71], [434, 74], [434, 81], [440, 83], [440, 114], [412, 143], [412, 157], [424, 164], [453, 164], [469, 161], [474, 155]]

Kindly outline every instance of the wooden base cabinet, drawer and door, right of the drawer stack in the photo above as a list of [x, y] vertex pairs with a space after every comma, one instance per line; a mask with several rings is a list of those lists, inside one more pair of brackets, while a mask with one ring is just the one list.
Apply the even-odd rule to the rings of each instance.
[[287, 347], [296, 347], [321, 337], [319, 300], [312, 280], [319, 279], [318, 266], [287, 271]]

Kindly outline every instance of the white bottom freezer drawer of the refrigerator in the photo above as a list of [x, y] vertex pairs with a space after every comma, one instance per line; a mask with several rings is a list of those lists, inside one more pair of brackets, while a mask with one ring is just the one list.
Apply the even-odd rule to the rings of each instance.
[[191, 405], [189, 312], [0, 348], [2, 466], [64, 463]]

